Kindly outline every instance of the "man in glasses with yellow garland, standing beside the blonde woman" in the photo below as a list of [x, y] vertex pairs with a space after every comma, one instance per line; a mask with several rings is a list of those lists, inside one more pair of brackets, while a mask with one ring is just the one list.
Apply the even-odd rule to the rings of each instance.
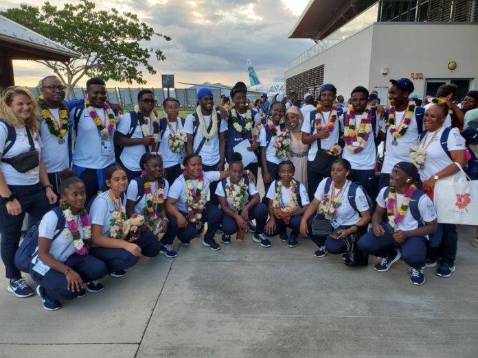
[[60, 178], [58, 173], [69, 168], [71, 161], [71, 120], [69, 111], [82, 106], [84, 99], [65, 99], [65, 89], [56, 76], [47, 76], [41, 80], [41, 93], [38, 99], [40, 108], [40, 136], [43, 143], [41, 158], [53, 191], [58, 195]]

